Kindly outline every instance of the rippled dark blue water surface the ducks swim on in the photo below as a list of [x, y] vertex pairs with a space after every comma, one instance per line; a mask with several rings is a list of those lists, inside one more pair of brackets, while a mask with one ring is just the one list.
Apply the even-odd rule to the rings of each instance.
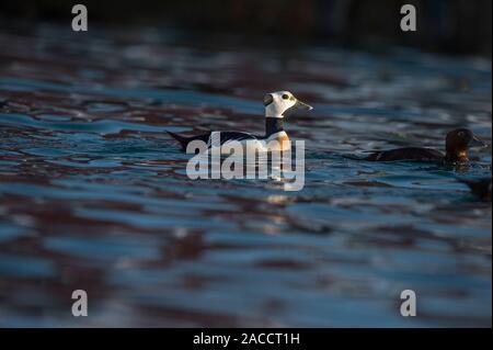
[[[491, 203], [455, 180], [490, 176], [491, 148], [344, 157], [491, 142], [490, 60], [89, 33], [0, 32], [0, 326], [491, 326]], [[314, 105], [286, 121], [302, 191], [188, 180], [164, 131], [262, 133], [280, 89]]]

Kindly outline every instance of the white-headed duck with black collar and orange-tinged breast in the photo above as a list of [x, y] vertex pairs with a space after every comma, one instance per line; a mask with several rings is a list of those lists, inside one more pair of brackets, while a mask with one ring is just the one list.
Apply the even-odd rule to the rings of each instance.
[[[183, 136], [172, 132], [168, 132], [168, 134], [179, 142], [182, 150], [186, 150], [186, 147], [193, 140], [206, 143], [208, 149], [221, 146], [221, 153], [222, 149], [227, 149], [222, 146], [227, 146], [232, 140], [240, 142], [243, 147], [244, 145], [253, 146], [261, 151], [289, 150], [291, 143], [283, 124], [286, 113], [295, 109], [311, 111], [313, 108], [298, 100], [289, 91], [267, 93], [264, 95], [263, 103], [265, 108], [265, 135], [263, 136], [234, 131], [207, 132], [194, 136]], [[246, 143], [249, 140], [250, 143]], [[272, 140], [277, 140], [277, 143], [271, 143]]]

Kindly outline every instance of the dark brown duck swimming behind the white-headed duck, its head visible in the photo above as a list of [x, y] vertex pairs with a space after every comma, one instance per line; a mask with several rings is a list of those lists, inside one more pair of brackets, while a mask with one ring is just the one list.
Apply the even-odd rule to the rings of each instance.
[[393, 161], [393, 160], [442, 160], [447, 162], [467, 162], [468, 149], [471, 147], [488, 146], [468, 128], [458, 128], [447, 134], [445, 138], [446, 154], [422, 147], [405, 147], [376, 151], [365, 160]]

